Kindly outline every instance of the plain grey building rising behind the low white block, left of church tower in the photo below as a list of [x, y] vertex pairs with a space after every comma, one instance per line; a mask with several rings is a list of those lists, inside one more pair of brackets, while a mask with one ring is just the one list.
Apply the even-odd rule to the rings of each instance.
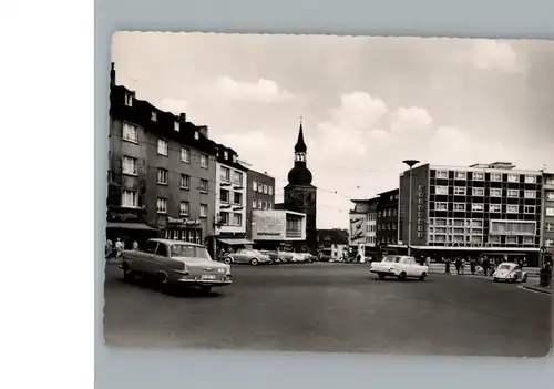
[[246, 174], [246, 238], [252, 239], [253, 209], [275, 208], [275, 178], [267, 172], [249, 170]]

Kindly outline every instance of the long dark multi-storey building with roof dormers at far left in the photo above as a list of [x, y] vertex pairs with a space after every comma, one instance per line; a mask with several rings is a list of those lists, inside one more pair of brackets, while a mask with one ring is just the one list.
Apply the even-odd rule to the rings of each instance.
[[[215, 222], [215, 143], [208, 129], [110, 83], [107, 237], [205, 243]], [[134, 219], [135, 224], [125, 223]]]

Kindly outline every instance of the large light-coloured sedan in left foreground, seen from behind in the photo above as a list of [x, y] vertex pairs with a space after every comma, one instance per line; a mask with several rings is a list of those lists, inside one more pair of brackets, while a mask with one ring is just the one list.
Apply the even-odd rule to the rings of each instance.
[[123, 250], [125, 279], [153, 277], [161, 286], [188, 285], [209, 293], [233, 283], [230, 266], [212, 259], [206, 247], [182, 240], [148, 239], [143, 249]]

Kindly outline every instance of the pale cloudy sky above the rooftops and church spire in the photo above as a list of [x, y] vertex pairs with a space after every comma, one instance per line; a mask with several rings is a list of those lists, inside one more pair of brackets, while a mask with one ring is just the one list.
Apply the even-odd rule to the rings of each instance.
[[119, 32], [112, 60], [138, 99], [275, 176], [277, 202], [302, 116], [318, 228], [398, 187], [404, 158], [554, 170], [547, 41]]

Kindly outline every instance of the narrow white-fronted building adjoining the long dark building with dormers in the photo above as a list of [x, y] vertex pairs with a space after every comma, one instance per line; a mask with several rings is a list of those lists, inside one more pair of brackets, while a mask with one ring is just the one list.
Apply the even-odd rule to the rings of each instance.
[[233, 149], [222, 144], [217, 145], [216, 165], [216, 236], [225, 245], [252, 244], [246, 239], [248, 168], [238, 162], [238, 154]]

